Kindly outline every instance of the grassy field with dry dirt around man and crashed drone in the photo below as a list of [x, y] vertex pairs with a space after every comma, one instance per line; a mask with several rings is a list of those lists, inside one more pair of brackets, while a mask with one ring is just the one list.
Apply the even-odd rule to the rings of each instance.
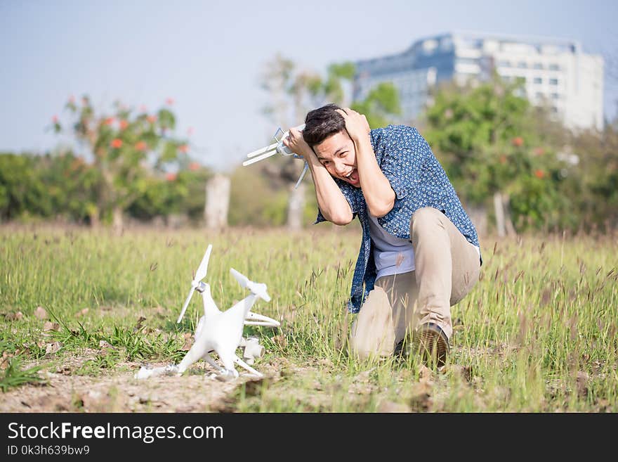
[[[482, 238], [481, 280], [452, 307], [449, 363], [430, 371], [416, 357], [348, 357], [360, 229], [321, 226], [1, 227], [0, 410], [618, 411], [618, 236]], [[282, 326], [245, 327], [265, 347], [254, 366], [266, 378], [220, 383], [200, 362], [138, 383], [143, 361], [186, 353], [199, 297], [176, 318], [209, 243], [206, 282], [221, 309], [246, 295], [230, 267], [268, 284], [272, 301], [254, 311]], [[185, 387], [197, 397], [183, 408]]]

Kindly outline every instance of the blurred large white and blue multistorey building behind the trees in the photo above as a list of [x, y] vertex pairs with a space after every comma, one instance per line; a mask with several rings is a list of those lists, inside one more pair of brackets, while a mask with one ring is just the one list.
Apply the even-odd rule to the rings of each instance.
[[534, 105], [546, 105], [570, 129], [603, 129], [603, 57], [578, 41], [473, 32], [451, 32], [415, 41], [402, 53], [357, 61], [353, 98], [362, 100], [381, 82], [400, 95], [402, 122], [415, 120], [442, 82], [475, 84], [493, 72], [524, 79]]

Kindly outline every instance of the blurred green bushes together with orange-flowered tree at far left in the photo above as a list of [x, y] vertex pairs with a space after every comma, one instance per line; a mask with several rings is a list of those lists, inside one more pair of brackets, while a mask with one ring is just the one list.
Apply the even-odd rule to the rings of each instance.
[[98, 224], [121, 212], [202, 218], [211, 172], [189, 158], [185, 140], [170, 136], [176, 117], [169, 108], [151, 114], [115, 103], [111, 114], [97, 115], [88, 96], [66, 108], [73, 122], [55, 117], [53, 130], [69, 131], [90, 152], [0, 153], [0, 220]]

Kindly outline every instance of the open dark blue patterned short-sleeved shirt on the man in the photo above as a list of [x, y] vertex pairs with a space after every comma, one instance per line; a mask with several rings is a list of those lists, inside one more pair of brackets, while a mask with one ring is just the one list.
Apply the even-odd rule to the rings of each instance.
[[[409, 240], [412, 214], [422, 207], [434, 207], [451, 220], [469, 243], [479, 246], [476, 229], [463, 210], [447, 174], [417, 129], [389, 125], [372, 130], [369, 137], [378, 165], [395, 191], [393, 209], [378, 219], [388, 233]], [[362, 226], [362, 242], [348, 302], [348, 311], [357, 313], [376, 281], [376, 265], [369, 235], [369, 212], [360, 188], [340, 179], [335, 179], [335, 182]], [[325, 221], [322, 212], [318, 210], [315, 223]]]

